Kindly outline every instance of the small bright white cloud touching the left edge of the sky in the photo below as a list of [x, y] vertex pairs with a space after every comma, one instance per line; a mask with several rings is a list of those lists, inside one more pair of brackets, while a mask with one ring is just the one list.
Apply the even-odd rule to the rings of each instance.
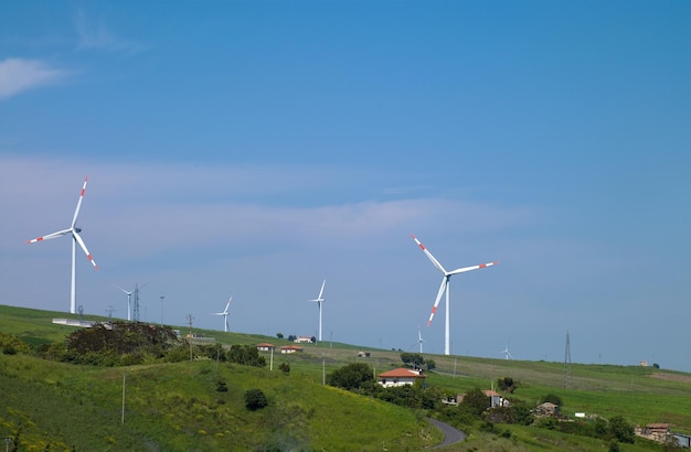
[[39, 60], [7, 58], [0, 62], [0, 99], [54, 84], [67, 74]]

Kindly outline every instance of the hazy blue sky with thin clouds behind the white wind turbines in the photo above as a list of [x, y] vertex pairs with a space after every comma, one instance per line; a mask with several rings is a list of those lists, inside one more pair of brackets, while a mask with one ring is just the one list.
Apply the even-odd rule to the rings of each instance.
[[691, 3], [2, 10], [0, 303], [691, 372]]

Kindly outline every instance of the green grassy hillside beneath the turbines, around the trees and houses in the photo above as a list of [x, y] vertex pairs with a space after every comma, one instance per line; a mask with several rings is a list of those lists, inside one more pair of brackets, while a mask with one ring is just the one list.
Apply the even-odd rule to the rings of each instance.
[[[54, 325], [64, 313], [0, 306], [0, 332], [32, 344], [62, 341], [74, 327]], [[68, 315], [67, 315], [68, 316]], [[85, 320], [103, 318], [85, 318]], [[183, 327], [181, 327], [184, 331]], [[195, 330], [222, 345], [285, 340]], [[306, 345], [305, 353], [274, 355], [274, 370], [213, 360], [103, 368], [0, 355], [0, 434], [19, 432], [20, 450], [212, 451], [212, 450], [421, 450], [438, 443], [422, 412], [322, 386], [325, 373], [365, 362], [376, 373], [402, 364], [401, 353], [346, 344]], [[562, 412], [623, 416], [634, 424], [669, 422], [691, 432], [691, 375], [651, 367], [571, 366], [563, 363], [425, 355], [436, 362], [427, 384], [458, 394], [489, 389], [499, 377], [519, 386], [512, 397], [536, 403], [559, 395]], [[267, 362], [269, 355], [266, 355]], [[284, 375], [278, 364], [288, 363]], [[125, 378], [125, 422], [123, 384]], [[227, 391], [217, 391], [219, 381]], [[268, 406], [249, 411], [244, 392], [259, 388]], [[476, 426], [477, 427], [477, 426]], [[595, 439], [536, 427], [469, 427], [469, 438], [447, 450], [602, 450]], [[498, 434], [498, 433], [509, 434]], [[504, 438], [510, 437], [510, 438]], [[621, 451], [650, 450], [650, 443], [621, 444]]]

